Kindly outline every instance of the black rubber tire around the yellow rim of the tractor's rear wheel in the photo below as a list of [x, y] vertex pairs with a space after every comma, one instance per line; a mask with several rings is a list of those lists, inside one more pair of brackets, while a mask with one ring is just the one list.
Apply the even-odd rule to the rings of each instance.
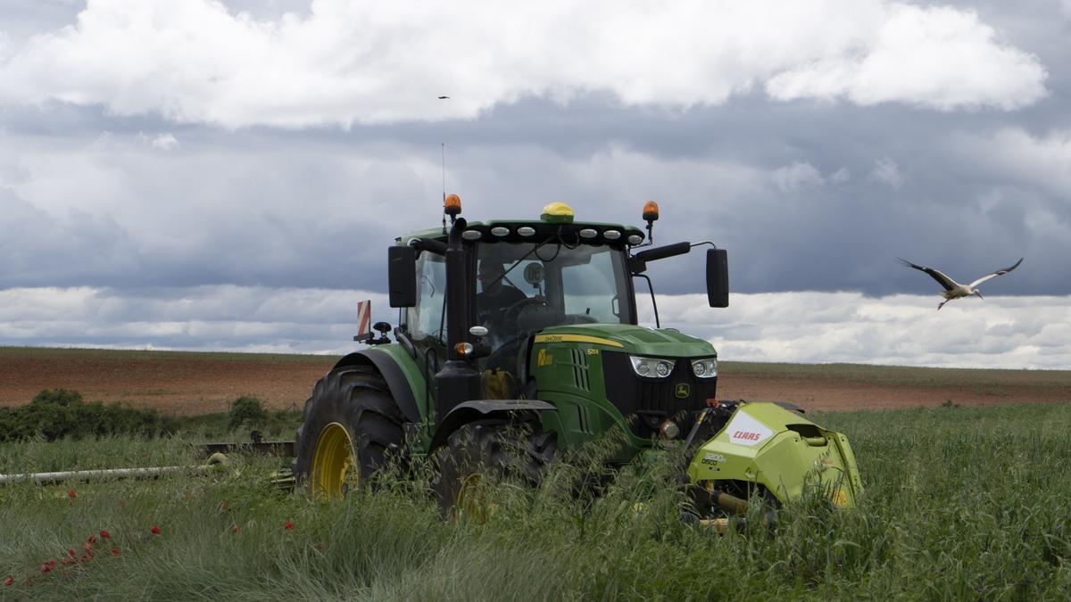
[[332, 370], [313, 387], [295, 437], [293, 475], [298, 485], [311, 487], [316, 445], [327, 425], [341, 424], [349, 435], [358, 467], [357, 483], [363, 486], [392, 458], [404, 460], [404, 422], [387, 382], [375, 368], [353, 365]]

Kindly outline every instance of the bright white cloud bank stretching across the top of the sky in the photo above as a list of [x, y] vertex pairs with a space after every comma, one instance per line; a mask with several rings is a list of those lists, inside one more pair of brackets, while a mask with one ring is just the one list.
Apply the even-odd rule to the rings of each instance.
[[779, 100], [939, 109], [1045, 93], [1038, 59], [974, 12], [887, 0], [316, 0], [269, 18], [216, 0], [94, 0], [73, 27], [0, 55], [0, 102], [297, 127], [472, 118], [589, 91], [677, 108], [764, 84]]

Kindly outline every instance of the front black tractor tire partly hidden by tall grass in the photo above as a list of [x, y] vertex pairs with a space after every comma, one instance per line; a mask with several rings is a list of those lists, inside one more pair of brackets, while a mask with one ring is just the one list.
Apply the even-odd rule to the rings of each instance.
[[504, 419], [478, 420], [450, 434], [436, 452], [432, 490], [444, 517], [457, 515], [458, 496], [474, 476], [493, 481], [519, 480], [536, 486], [558, 453], [557, 435], [539, 423]]

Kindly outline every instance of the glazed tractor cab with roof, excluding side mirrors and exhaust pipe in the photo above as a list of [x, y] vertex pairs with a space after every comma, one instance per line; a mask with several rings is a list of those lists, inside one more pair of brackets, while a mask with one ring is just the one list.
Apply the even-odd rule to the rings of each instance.
[[[465, 303], [456, 315], [484, 329], [478, 328], [479, 336], [469, 334], [482, 347], [472, 359], [483, 375], [484, 398], [522, 394], [526, 351], [532, 335], [543, 329], [636, 323], [628, 247], [630, 239], [642, 242], [643, 232], [617, 224], [574, 223], [571, 217], [567, 206], [555, 204], [539, 221], [465, 226], [465, 277], [459, 279]], [[414, 303], [404, 313], [402, 329], [414, 347], [440, 362], [449, 356], [447, 238], [432, 230], [402, 241], [420, 247], [413, 265]]]

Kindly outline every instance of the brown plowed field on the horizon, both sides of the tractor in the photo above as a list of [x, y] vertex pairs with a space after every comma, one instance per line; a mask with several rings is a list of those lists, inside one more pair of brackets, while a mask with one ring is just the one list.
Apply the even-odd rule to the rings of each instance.
[[[302, 407], [335, 356], [0, 347], [0, 406], [42, 389], [172, 413], [225, 411], [239, 395]], [[719, 397], [812, 410], [1071, 402], [1071, 372], [723, 362]]]

